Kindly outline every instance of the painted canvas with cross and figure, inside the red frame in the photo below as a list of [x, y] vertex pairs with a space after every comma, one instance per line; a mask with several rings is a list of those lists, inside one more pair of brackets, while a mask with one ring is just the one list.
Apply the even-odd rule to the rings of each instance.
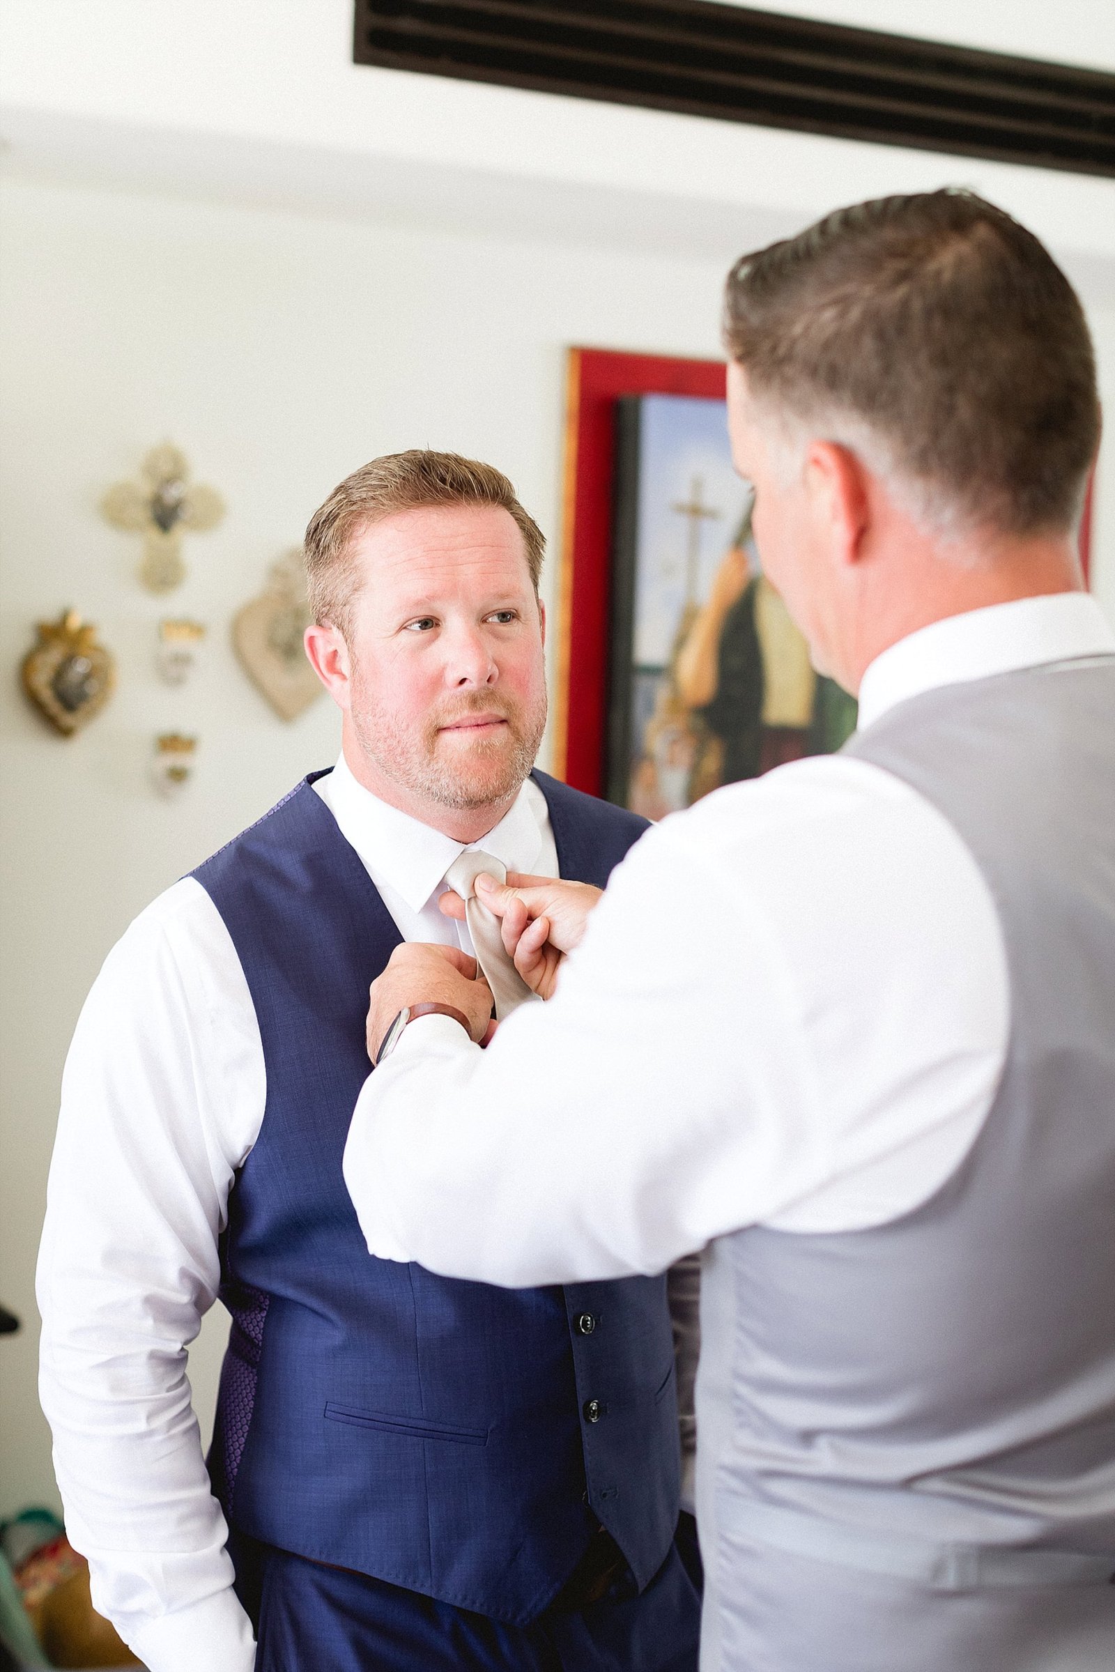
[[[856, 702], [817, 674], [762, 573], [722, 401], [620, 401], [610, 796], [649, 819], [839, 749]], [[717, 538], [719, 537], [719, 538]], [[622, 610], [617, 619], [624, 619]]]

